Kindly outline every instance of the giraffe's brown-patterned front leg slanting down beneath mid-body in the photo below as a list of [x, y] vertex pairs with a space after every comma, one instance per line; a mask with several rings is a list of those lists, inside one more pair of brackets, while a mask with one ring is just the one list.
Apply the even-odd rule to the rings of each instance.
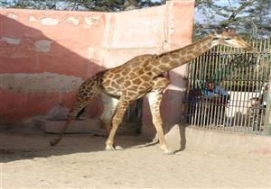
[[119, 124], [121, 123], [121, 121], [123, 120], [123, 116], [126, 112], [128, 105], [129, 105], [129, 101], [124, 100], [124, 98], [121, 98], [119, 100], [119, 103], [117, 104], [117, 111], [112, 119], [112, 128], [110, 130], [110, 133], [106, 142], [106, 150], [121, 149], [121, 147], [119, 146], [115, 147], [114, 138], [116, 135], [117, 128]]

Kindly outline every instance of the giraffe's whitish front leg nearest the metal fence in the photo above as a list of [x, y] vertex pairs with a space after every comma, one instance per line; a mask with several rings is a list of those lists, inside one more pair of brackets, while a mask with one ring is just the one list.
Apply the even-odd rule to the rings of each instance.
[[153, 123], [155, 130], [157, 131], [160, 148], [164, 150], [164, 154], [173, 154], [173, 151], [170, 150], [165, 142], [164, 139], [164, 130], [163, 130], [163, 122], [160, 114], [160, 103], [162, 101], [162, 90], [154, 90], [150, 94], [148, 94], [148, 101], [150, 104], [152, 116], [153, 116]]

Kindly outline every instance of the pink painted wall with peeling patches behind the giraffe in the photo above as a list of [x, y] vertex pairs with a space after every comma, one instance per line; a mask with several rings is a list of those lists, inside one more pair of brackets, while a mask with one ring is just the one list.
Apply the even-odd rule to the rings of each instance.
[[[46, 114], [59, 101], [71, 107], [79, 84], [99, 70], [189, 44], [192, 17], [193, 0], [122, 13], [1, 9], [0, 121]], [[181, 119], [185, 73], [169, 74], [164, 121]], [[89, 104], [91, 117], [101, 111], [98, 102]]]

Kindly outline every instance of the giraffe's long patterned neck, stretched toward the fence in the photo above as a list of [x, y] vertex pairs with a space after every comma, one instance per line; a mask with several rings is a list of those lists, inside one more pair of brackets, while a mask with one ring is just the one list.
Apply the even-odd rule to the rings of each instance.
[[194, 58], [201, 56], [201, 54], [216, 45], [213, 44], [212, 41], [213, 37], [208, 36], [181, 49], [175, 49], [159, 55], [159, 63], [154, 69], [157, 72], [155, 74], [163, 74], [174, 67], [180, 67], [183, 64], [192, 61]]

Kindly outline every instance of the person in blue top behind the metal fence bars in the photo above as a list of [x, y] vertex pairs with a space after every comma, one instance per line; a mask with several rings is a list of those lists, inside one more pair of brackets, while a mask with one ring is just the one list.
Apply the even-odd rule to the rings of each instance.
[[[206, 87], [203, 90], [203, 96], [207, 98], [210, 103], [217, 106], [215, 108], [216, 111], [212, 112], [211, 120], [216, 121], [220, 119], [219, 122], [222, 124], [230, 125], [230, 120], [225, 113], [230, 98], [229, 92], [209, 80], [206, 82]], [[220, 106], [220, 108], [218, 108], [218, 106]]]

